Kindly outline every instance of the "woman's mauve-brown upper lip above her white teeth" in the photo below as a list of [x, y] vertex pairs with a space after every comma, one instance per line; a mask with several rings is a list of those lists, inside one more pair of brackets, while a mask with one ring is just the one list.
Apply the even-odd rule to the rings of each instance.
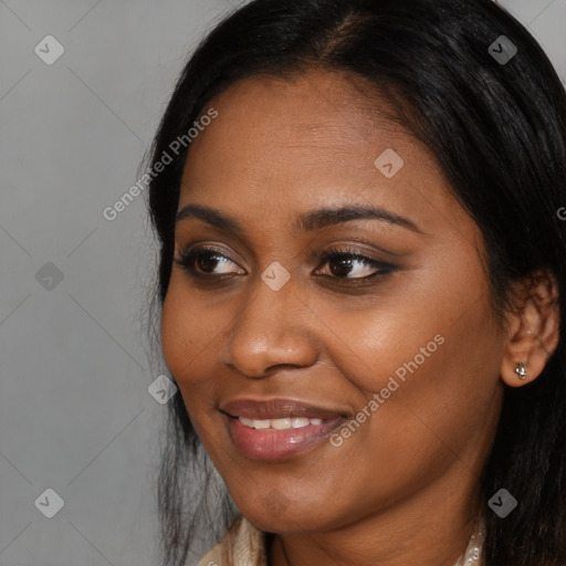
[[344, 411], [317, 407], [310, 402], [296, 399], [240, 399], [229, 401], [220, 410], [230, 417], [245, 417], [248, 419], [282, 419], [289, 417], [304, 417], [307, 419], [331, 420], [345, 417]]

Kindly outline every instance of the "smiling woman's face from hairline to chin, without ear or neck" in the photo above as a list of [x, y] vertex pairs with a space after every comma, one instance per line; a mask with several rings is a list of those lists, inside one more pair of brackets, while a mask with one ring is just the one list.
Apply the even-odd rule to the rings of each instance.
[[174, 262], [161, 337], [235, 504], [273, 532], [472, 505], [505, 335], [430, 153], [335, 74], [249, 78], [210, 106], [175, 259], [212, 251]]

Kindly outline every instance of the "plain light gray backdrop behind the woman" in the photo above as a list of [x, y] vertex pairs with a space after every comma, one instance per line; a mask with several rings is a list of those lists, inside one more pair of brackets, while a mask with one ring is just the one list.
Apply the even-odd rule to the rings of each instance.
[[[137, 180], [187, 53], [238, 3], [0, 0], [0, 566], [158, 564], [155, 252], [143, 196], [102, 211]], [[566, 0], [501, 3], [564, 81]], [[49, 34], [65, 50], [51, 65], [34, 53]], [[64, 500], [52, 518], [46, 489]]]

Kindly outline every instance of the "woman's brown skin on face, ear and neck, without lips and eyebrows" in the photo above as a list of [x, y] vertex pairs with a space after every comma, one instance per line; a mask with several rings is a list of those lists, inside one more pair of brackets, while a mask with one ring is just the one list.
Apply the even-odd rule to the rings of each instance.
[[[191, 144], [178, 210], [212, 207], [245, 232], [177, 223], [176, 259], [213, 245], [227, 261], [205, 269], [233, 279], [206, 286], [174, 263], [161, 319], [207, 452], [242, 514], [277, 533], [270, 565], [452, 566], [484, 504], [479, 474], [505, 384], [535, 379], [556, 346], [555, 286], [544, 280], [541, 301], [525, 294], [499, 324], [478, 227], [433, 156], [359, 83], [322, 71], [252, 77], [210, 106], [219, 115]], [[374, 166], [387, 148], [405, 161], [390, 179]], [[301, 213], [346, 203], [386, 208], [419, 231], [380, 220], [292, 229]], [[316, 259], [345, 245], [395, 270], [356, 286], [376, 269]], [[274, 261], [291, 275], [276, 292], [261, 279]], [[339, 448], [252, 460], [219, 412], [231, 399], [290, 397], [354, 417], [438, 334], [444, 343]]]

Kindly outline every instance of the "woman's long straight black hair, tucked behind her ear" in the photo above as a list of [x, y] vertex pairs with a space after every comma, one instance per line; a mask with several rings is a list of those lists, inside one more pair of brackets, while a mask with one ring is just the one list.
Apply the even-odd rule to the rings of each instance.
[[[556, 277], [566, 319], [566, 94], [527, 30], [492, 0], [254, 0], [190, 56], [150, 149], [151, 167], [165, 153], [172, 157], [148, 190], [159, 245], [154, 324], [171, 272], [187, 132], [235, 81], [312, 69], [365, 78], [433, 151], [483, 234], [501, 319], [511, 283], [541, 269]], [[158, 503], [164, 563], [180, 566], [196, 528], [219, 524], [209, 499], [219, 483], [180, 395], [169, 411]], [[200, 491], [188, 490], [195, 484]], [[485, 502], [501, 488], [518, 501], [505, 518], [486, 511], [486, 566], [566, 564], [564, 324], [542, 375], [506, 388], [481, 488]], [[224, 530], [237, 510], [221, 482], [213, 494], [223, 501]]]

